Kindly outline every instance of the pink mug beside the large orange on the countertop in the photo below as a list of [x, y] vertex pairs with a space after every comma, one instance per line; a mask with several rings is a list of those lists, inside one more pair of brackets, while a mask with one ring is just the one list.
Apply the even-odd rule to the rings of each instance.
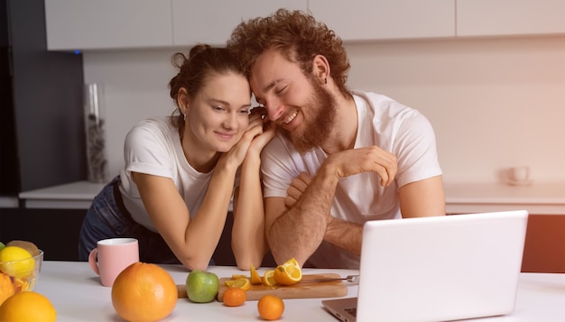
[[135, 238], [109, 238], [97, 242], [90, 251], [88, 263], [100, 275], [102, 285], [114, 285], [117, 275], [134, 262], [139, 262], [139, 244]]

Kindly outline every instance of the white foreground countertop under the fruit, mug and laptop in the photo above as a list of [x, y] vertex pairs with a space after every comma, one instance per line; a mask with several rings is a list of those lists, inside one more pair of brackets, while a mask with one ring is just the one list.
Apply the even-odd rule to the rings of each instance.
[[[186, 281], [189, 271], [180, 265], [162, 265], [177, 284]], [[242, 273], [234, 267], [210, 266], [218, 277]], [[263, 269], [261, 269], [262, 271]], [[314, 270], [304, 273], [334, 272], [341, 276], [355, 270]], [[111, 288], [100, 284], [88, 262], [43, 262], [42, 274], [35, 291], [51, 300], [57, 310], [57, 321], [118, 321], [112, 306]], [[357, 286], [348, 286], [347, 297], [357, 296]], [[488, 294], [486, 294], [488, 296]], [[521, 273], [514, 312], [503, 317], [487, 317], [473, 321], [557, 322], [565, 319], [565, 274]], [[281, 321], [337, 321], [321, 306], [321, 299], [284, 299]], [[228, 308], [218, 301], [195, 304], [179, 299], [171, 316], [173, 321], [258, 321], [256, 301], [241, 307]]]

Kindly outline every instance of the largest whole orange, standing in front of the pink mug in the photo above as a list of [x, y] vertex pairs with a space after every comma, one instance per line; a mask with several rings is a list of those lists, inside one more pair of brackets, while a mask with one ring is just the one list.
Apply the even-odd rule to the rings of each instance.
[[112, 285], [112, 304], [126, 321], [153, 322], [168, 317], [177, 304], [171, 274], [153, 263], [134, 262]]

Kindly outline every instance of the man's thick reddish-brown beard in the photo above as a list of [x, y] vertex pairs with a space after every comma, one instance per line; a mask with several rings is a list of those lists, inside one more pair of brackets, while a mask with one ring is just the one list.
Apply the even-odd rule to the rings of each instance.
[[[301, 107], [306, 121], [302, 124], [304, 129], [300, 133], [296, 131], [289, 133], [294, 148], [301, 153], [321, 146], [329, 138], [336, 116], [336, 99], [316, 80], [312, 79], [310, 84], [313, 93], [310, 96], [309, 104], [306, 105], [308, 111], [304, 111]], [[304, 112], [308, 112], [310, 118], [307, 119]]]

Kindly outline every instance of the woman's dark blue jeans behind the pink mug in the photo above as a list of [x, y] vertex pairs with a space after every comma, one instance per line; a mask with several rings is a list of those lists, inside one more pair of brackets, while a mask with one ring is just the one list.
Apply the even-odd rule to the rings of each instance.
[[161, 235], [134, 222], [121, 202], [118, 183], [119, 176], [109, 182], [92, 201], [80, 228], [79, 261], [88, 261], [88, 254], [101, 239], [133, 237], [139, 242], [140, 262], [181, 263]]

